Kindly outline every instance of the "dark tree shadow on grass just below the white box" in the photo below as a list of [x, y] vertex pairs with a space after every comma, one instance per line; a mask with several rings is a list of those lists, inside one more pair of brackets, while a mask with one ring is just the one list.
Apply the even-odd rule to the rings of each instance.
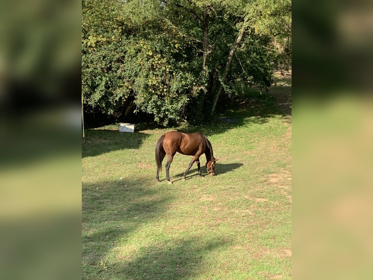
[[144, 132], [125, 133], [105, 129], [90, 129], [85, 134], [85, 142], [82, 143], [82, 158], [101, 155], [113, 150], [138, 149], [150, 136]]

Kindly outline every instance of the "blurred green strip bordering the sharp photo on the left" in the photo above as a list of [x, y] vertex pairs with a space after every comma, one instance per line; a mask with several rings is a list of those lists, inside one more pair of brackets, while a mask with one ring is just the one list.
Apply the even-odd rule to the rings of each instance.
[[0, 271], [81, 277], [81, 3], [0, 4]]

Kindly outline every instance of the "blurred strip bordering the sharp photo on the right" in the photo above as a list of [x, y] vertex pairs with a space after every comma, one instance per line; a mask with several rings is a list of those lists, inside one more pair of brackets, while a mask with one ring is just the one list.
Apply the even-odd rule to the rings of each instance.
[[294, 279], [372, 279], [373, 6], [293, 1]]

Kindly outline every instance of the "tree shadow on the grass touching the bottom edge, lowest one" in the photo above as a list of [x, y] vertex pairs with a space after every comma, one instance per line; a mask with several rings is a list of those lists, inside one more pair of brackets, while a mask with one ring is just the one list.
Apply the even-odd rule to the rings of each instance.
[[201, 241], [206, 237], [187, 240], [167, 240], [144, 249], [141, 255], [128, 262], [118, 262], [120, 273], [126, 279], [185, 279], [200, 274], [201, 262], [216, 248], [227, 242], [222, 239]]

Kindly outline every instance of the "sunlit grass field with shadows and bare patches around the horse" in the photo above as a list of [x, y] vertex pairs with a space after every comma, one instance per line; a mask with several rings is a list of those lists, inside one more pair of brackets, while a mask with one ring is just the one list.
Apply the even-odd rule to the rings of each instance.
[[191, 157], [176, 154], [173, 184], [164, 167], [156, 182], [155, 145], [171, 129], [86, 131], [83, 279], [291, 279], [291, 75], [275, 77], [226, 106], [237, 124], [175, 128], [206, 134], [213, 177], [193, 165], [182, 181]]

